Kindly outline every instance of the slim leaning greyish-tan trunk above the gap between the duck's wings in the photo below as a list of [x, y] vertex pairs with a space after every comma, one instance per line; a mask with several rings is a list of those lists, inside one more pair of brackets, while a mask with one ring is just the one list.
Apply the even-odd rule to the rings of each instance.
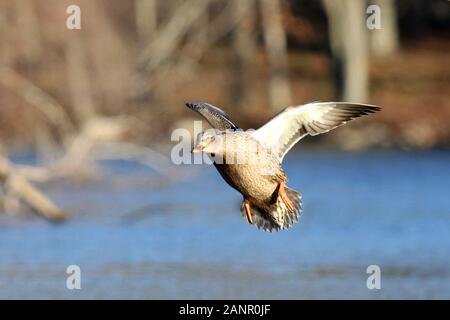
[[278, 0], [260, 1], [264, 42], [270, 64], [270, 105], [273, 109], [278, 109], [291, 103], [286, 34], [281, 20], [280, 2]]

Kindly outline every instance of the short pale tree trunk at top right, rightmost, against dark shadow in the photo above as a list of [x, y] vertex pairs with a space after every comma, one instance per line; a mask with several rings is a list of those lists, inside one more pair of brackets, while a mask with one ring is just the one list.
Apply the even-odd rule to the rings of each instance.
[[381, 29], [370, 32], [371, 50], [376, 56], [395, 53], [399, 47], [397, 9], [394, 0], [374, 0], [380, 7]]

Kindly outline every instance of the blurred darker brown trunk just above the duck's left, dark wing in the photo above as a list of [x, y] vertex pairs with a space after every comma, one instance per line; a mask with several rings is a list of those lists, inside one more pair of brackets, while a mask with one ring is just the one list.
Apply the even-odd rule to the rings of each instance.
[[233, 17], [244, 17], [233, 30], [234, 79], [232, 81], [232, 105], [240, 105], [247, 100], [253, 78], [256, 51], [254, 36], [254, 0], [233, 0]]

